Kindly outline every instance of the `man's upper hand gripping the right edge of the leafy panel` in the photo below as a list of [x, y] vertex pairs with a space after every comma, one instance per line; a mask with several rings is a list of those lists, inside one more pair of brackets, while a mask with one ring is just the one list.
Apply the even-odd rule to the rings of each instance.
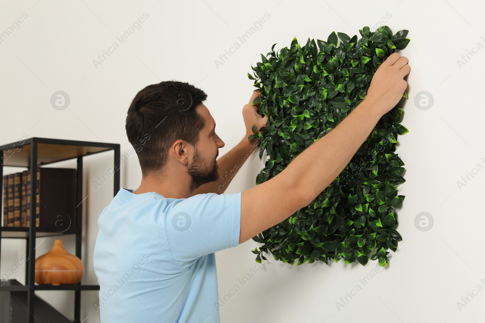
[[394, 52], [379, 66], [372, 77], [365, 100], [379, 109], [381, 115], [394, 108], [403, 97], [407, 87], [404, 77], [411, 70], [407, 62], [406, 57], [401, 57]]

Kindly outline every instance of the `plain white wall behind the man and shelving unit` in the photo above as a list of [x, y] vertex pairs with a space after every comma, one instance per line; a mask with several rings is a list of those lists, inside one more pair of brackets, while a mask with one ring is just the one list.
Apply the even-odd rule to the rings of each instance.
[[[485, 292], [465, 307], [462, 296], [477, 285], [485, 287], [482, 257], [483, 184], [485, 171], [475, 170], [465, 186], [457, 181], [467, 171], [485, 166], [481, 105], [485, 50], [459, 66], [457, 60], [481, 43], [485, 45], [480, 1], [52, 1], [28, 0], [1, 3], [0, 32], [17, 17], [28, 14], [19, 30], [0, 44], [0, 143], [29, 137], [65, 138], [121, 144], [130, 148], [125, 117], [133, 96], [148, 84], [175, 78], [198, 85], [209, 94], [206, 105], [226, 143], [221, 155], [244, 135], [242, 106], [253, 91], [247, 79], [250, 65], [276, 49], [290, 46], [296, 36], [326, 40], [331, 31], [358, 34], [386, 15], [392, 31], [408, 29], [409, 46], [402, 52], [410, 60], [409, 100], [404, 106], [404, 125], [410, 132], [400, 137], [398, 153], [406, 164], [406, 196], [398, 212], [398, 231], [404, 243], [380, 272], [376, 261], [365, 267], [342, 262], [291, 266], [272, 259], [241, 291], [220, 309], [222, 322], [478, 322]], [[144, 13], [149, 18], [102, 65], [98, 54], [118, 42], [116, 37]], [[268, 12], [262, 29], [242, 44], [223, 65], [214, 60], [238, 42], [238, 36]], [[386, 20], [383, 20], [386, 21]], [[374, 26], [375, 27], [375, 26]], [[481, 38], [481, 37], [484, 38]], [[56, 91], [69, 94], [70, 106], [51, 107]], [[434, 96], [434, 105], [420, 110], [414, 98], [420, 91]], [[96, 284], [92, 253], [97, 217], [112, 199], [112, 183], [96, 190], [93, 180], [112, 165], [112, 154], [85, 158], [85, 231], [82, 249], [86, 268], [83, 284]], [[483, 157], [484, 160], [480, 158]], [[263, 167], [250, 160], [226, 193], [254, 185]], [[75, 167], [72, 162], [54, 164]], [[16, 169], [5, 169], [5, 173]], [[136, 188], [141, 178], [133, 156], [123, 166], [121, 185]], [[430, 231], [419, 231], [416, 215], [429, 212]], [[74, 237], [65, 237], [74, 252]], [[39, 240], [40, 242], [40, 240]], [[47, 252], [53, 239], [36, 249]], [[256, 262], [250, 240], [218, 252], [218, 287], [223, 295], [239, 284]], [[3, 240], [0, 273], [24, 253], [21, 241]], [[90, 251], [91, 250], [91, 251]], [[392, 254], [392, 252], [391, 252]], [[372, 273], [364, 286], [359, 279]], [[17, 276], [23, 282], [24, 272]], [[484, 282], [480, 279], [484, 278]], [[340, 297], [360, 285], [361, 290], [343, 308]], [[241, 285], [240, 285], [241, 287]], [[39, 292], [67, 316], [73, 316], [73, 292]], [[354, 292], [355, 294], [355, 292]], [[94, 303], [97, 292], [82, 292], [81, 320], [99, 322]], [[341, 303], [343, 304], [343, 303]]]

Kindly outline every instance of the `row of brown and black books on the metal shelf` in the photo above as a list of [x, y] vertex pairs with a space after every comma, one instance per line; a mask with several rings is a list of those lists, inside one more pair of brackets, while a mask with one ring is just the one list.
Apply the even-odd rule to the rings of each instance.
[[3, 176], [4, 227], [30, 227], [31, 201], [36, 227], [76, 223], [76, 169], [37, 168], [35, 190], [30, 169]]

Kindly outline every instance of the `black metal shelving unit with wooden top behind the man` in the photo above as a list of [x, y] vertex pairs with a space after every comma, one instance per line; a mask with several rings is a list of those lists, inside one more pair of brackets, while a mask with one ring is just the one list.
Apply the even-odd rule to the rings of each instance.
[[[25, 274], [26, 285], [0, 286], [0, 291], [26, 291], [28, 321], [34, 323], [34, 296], [35, 291], [75, 291], [74, 297], [74, 323], [81, 323], [81, 291], [99, 290], [99, 285], [35, 285], [35, 238], [75, 234], [76, 235], [76, 256], [81, 259], [82, 245], [82, 157], [106, 151], [114, 151], [114, 179], [113, 196], [119, 191], [120, 186], [120, 145], [115, 143], [103, 143], [92, 141], [65, 140], [53, 138], [28, 138], [18, 142], [12, 142], [0, 146], [0, 183], [3, 179], [3, 167], [27, 167], [35, 169], [42, 165], [48, 165], [68, 159], [77, 159], [77, 193], [76, 193], [76, 226], [64, 232], [56, 228], [37, 228], [31, 225], [29, 228], [0, 227], [2, 239], [26, 239], [27, 270]], [[116, 167], [117, 166], [117, 167]], [[31, 187], [37, 187], [36, 176], [31, 176]], [[33, 190], [35, 191], [35, 190]], [[0, 185], [0, 197], [3, 200], [3, 185]], [[35, 223], [36, 196], [31, 193], [30, 223]], [[1, 203], [0, 203], [1, 204]], [[0, 239], [1, 252], [1, 239]], [[1, 261], [1, 253], [0, 253]]]

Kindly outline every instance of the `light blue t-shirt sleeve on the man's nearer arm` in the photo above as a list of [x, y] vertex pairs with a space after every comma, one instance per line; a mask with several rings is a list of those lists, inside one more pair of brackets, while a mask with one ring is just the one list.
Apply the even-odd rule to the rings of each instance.
[[239, 244], [241, 193], [197, 194], [180, 200], [166, 215], [166, 234], [179, 265]]

